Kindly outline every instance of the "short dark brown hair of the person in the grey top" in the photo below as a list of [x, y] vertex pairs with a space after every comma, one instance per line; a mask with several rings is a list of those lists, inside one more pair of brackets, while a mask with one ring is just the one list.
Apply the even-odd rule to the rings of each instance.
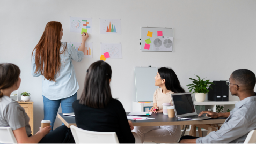
[[12, 87], [19, 80], [20, 69], [17, 65], [0, 64], [0, 98], [3, 97], [1, 90]]

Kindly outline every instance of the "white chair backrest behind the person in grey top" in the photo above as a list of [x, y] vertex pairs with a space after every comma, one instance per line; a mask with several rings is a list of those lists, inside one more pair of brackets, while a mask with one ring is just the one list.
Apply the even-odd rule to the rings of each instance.
[[0, 143], [18, 143], [11, 127], [0, 127]]

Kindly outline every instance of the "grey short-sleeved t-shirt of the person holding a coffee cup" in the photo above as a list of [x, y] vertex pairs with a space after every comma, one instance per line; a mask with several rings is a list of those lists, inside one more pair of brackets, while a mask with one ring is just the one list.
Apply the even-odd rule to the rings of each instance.
[[8, 96], [0, 98], [0, 127], [10, 126], [12, 130], [25, 127], [28, 136], [31, 134], [29, 122], [30, 117], [18, 102]]

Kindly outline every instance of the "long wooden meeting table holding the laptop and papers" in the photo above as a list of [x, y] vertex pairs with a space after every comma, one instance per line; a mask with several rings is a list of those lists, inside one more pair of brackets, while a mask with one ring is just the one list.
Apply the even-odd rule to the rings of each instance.
[[[126, 115], [128, 115], [130, 112], [126, 112]], [[142, 116], [147, 117], [147, 116]], [[177, 118], [169, 118], [168, 115], [163, 115], [163, 113], [152, 113], [151, 116], [148, 116], [149, 118], [155, 118], [155, 119], [149, 119], [149, 120], [136, 120], [131, 121], [133, 122], [133, 126], [162, 126], [162, 125], [186, 125], [182, 135], [184, 135], [187, 126], [191, 126], [191, 131], [189, 132], [189, 135], [195, 135], [195, 126], [202, 125], [202, 128], [207, 128], [208, 133], [210, 131], [216, 130], [214, 126], [210, 126], [207, 124], [223, 124], [226, 120], [226, 118], [217, 118], [217, 119], [207, 119], [207, 120], [182, 120]], [[69, 128], [71, 125], [77, 126], [75, 117], [72, 116], [63, 116], [62, 113], [58, 113], [58, 118], [61, 119], [61, 121]], [[209, 129], [209, 127], [211, 129]], [[201, 128], [200, 128], [201, 130]], [[199, 136], [201, 136], [199, 134]]]

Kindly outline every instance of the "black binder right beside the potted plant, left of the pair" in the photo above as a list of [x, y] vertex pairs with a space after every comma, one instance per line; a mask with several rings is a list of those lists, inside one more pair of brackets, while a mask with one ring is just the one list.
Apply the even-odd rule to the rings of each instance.
[[213, 81], [213, 84], [211, 84], [211, 89], [210, 87], [208, 88], [208, 100], [210, 101], [222, 101], [222, 82], [221, 81]]

